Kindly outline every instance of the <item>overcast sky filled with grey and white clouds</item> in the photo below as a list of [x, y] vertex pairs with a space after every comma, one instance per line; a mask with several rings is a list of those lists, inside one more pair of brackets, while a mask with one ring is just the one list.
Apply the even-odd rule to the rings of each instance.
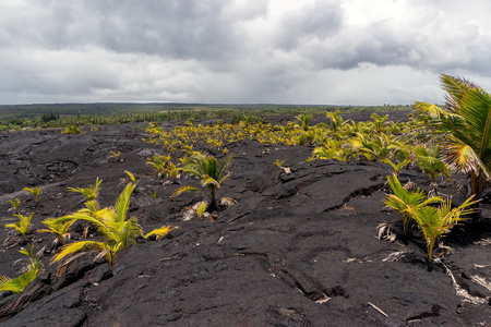
[[489, 0], [9, 0], [0, 104], [443, 102], [491, 92]]

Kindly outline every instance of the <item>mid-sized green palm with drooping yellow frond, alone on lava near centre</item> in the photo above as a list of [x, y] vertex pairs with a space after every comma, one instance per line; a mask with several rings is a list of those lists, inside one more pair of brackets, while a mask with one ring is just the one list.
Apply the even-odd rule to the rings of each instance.
[[224, 160], [217, 160], [215, 157], [206, 156], [201, 153], [196, 153], [192, 157], [187, 157], [183, 160], [184, 167], [182, 170], [197, 177], [201, 180], [203, 189], [187, 185], [178, 189], [172, 196], [178, 196], [183, 192], [202, 192], [209, 197], [207, 210], [211, 211], [216, 209], [216, 191], [229, 177], [226, 169], [231, 158], [232, 156]]

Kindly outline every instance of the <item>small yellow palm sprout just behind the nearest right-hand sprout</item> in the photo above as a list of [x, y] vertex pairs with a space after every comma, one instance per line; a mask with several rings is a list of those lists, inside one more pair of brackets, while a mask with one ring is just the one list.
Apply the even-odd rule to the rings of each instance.
[[384, 201], [384, 204], [400, 213], [400, 216], [403, 217], [404, 232], [406, 232], [409, 227], [409, 213], [411, 208], [419, 208], [429, 204], [443, 202], [443, 197], [441, 196], [433, 196], [427, 199], [424, 192], [419, 189], [416, 191], [408, 191], [404, 189], [396, 175], [393, 175], [392, 178], [387, 175], [387, 181], [394, 194], [387, 194], [387, 198]]

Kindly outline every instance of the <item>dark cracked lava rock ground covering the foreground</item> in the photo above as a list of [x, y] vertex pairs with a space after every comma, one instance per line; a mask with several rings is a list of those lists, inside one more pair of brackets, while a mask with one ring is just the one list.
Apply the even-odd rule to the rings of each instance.
[[[404, 120], [406, 113], [391, 118]], [[231, 175], [218, 194], [237, 204], [215, 213], [213, 221], [184, 221], [182, 211], [202, 195], [170, 195], [196, 181], [163, 185], [153, 177], [146, 158], [165, 153], [141, 141], [145, 125], [85, 128], [81, 135], [0, 133], [1, 225], [16, 219], [8, 199], [19, 197], [22, 211], [34, 213], [26, 243], [0, 228], [0, 275], [20, 274], [22, 246], [44, 247], [41, 275], [23, 294], [0, 295], [0, 326], [490, 326], [486, 201], [482, 219], [455, 228], [442, 239], [448, 249], [436, 252], [440, 262], [428, 264], [416, 229], [395, 242], [378, 240], [380, 223], [402, 230], [400, 215], [382, 203], [388, 166], [306, 162], [312, 148], [248, 141], [228, 146]], [[115, 158], [111, 152], [121, 154]], [[276, 159], [290, 172], [273, 165]], [[112, 267], [87, 256], [56, 277], [49, 265], [53, 237], [35, 232], [40, 221], [82, 208], [83, 196], [67, 187], [88, 186], [96, 178], [104, 180], [101, 206], [113, 205], [125, 170], [139, 178], [130, 210], [144, 231], [179, 228], [157, 241], [140, 239]], [[400, 180], [429, 185], [427, 175], [409, 170]], [[40, 201], [24, 186], [41, 186]], [[463, 201], [447, 183], [438, 190]], [[83, 230], [83, 223], [72, 227], [72, 240]], [[93, 237], [97, 232], [89, 229]]]

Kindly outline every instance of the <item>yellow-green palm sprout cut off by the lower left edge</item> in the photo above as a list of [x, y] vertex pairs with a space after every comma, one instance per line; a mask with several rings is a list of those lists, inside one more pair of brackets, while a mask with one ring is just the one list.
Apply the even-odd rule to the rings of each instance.
[[22, 247], [19, 252], [27, 255], [31, 258], [31, 263], [28, 264], [26, 271], [17, 278], [0, 276], [0, 291], [11, 291], [20, 294], [40, 274], [43, 264], [39, 261], [39, 256], [33, 258], [34, 244], [31, 246], [31, 251]]

